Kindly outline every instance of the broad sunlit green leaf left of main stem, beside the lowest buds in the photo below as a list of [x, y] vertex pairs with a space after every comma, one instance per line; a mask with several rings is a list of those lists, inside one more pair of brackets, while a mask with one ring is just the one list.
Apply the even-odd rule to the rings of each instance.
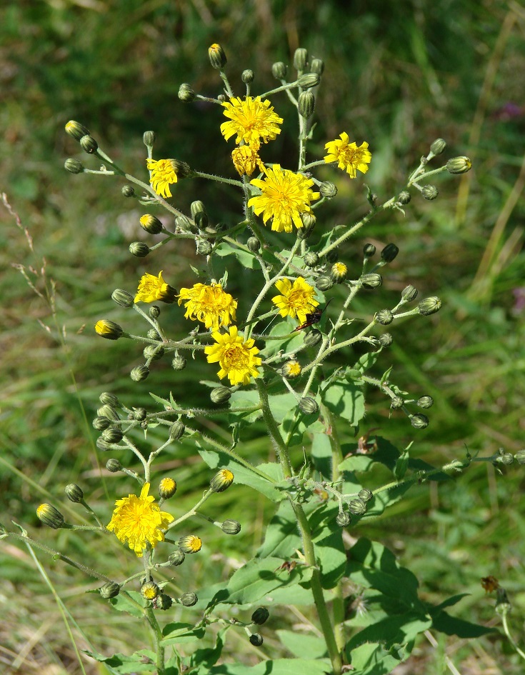
[[280, 558], [254, 558], [238, 569], [231, 576], [227, 591], [228, 598], [223, 602], [229, 604], [249, 604], [264, 598], [275, 589], [294, 584], [304, 584], [311, 579], [312, 570], [304, 565], [297, 565], [288, 571], [279, 569]]

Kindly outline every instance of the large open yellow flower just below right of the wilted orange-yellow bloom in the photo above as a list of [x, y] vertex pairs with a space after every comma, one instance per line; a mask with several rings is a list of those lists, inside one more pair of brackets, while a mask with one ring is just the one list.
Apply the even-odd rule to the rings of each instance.
[[294, 171], [281, 169], [279, 164], [264, 169], [264, 173], [264, 180], [256, 178], [250, 181], [251, 185], [261, 189], [262, 194], [251, 197], [248, 206], [253, 207], [258, 216], [263, 214], [265, 225], [271, 219], [271, 229], [276, 232], [291, 232], [292, 223], [298, 229], [303, 227], [301, 214], [311, 214], [310, 202], [319, 199], [319, 192], [310, 189], [314, 181]]

